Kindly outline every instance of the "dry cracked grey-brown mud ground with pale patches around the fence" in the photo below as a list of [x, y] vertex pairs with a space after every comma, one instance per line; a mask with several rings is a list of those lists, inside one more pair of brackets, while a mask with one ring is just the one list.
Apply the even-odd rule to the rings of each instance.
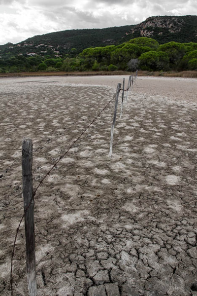
[[[35, 188], [115, 93], [66, 81], [0, 80], [2, 296], [23, 215], [23, 137], [33, 140]], [[121, 119], [119, 104], [112, 158], [113, 103], [62, 159], [35, 196], [38, 296], [197, 295], [196, 107], [134, 86]], [[17, 296], [28, 295], [24, 232], [22, 223]]]

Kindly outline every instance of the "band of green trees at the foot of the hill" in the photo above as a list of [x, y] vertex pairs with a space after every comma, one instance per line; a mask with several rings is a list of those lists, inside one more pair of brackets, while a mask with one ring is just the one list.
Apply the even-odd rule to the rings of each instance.
[[83, 71], [185, 71], [197, 70], [197, 43], [137, 37], [119, 45], [89, 47], [77, 53], [72, 48], [62, 57], [12, 55], [0, 57], [0, 73]]

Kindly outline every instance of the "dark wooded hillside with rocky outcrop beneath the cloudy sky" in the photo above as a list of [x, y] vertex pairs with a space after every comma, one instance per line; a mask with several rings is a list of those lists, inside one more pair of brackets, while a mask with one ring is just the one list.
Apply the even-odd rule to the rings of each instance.
[[[160, 44], [197, 42], [197, 16], [155, 16], [138, 25], [106, 29], [66, 30], [38, 35], [20, 43], [0, 45], [0, 56], [61, 56], [81, 52], [88, 47], [127, 42], [135, 37], [151, 37]], [[73, 49], [74, 48], [74, 49]]]

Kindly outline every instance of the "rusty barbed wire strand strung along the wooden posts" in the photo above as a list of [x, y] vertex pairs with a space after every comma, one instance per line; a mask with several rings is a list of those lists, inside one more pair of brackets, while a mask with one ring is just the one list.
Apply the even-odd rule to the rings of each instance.
[[[136, 80], [136, 77], [135, 77]], [[120, 91], [129, 91], [129, 89], [131, 88], [131, 84], [129, 85], [129, 87], [127, 89], [123, 89], [120, 88], [115, 95], [113, 96], [113, 98], [105, 105], [105, 107], [99, 111], [99, 113], [97, 114], [97, 116], [91, 121], [91, 123], [81, 132], [81, 134], [79, 135], [79, 137], [70, 145], [70, 147], [65, 151], [65, 153], [63, 155], [61, 155], [58, 159], [58, 161], [56, 161], [56, 163], [52, 166], [52, 168], [44, 175], [44, 177], [41, 179], [41, 181], [39, 182], [39, 184], [37, 185], [37, 187], [35, 188], [35, 190], [33, 191], [33, 195], [32, 198], [30, 200], [30, 203], [28, 205], [28, 207], [25, 209], [23, 216], [21, 217], [21, 220], [19, 222], [19, 225], [16, 229], [16, 234], [15, 234], [15, 238], [14, 238], [14, 245], [13, 245], [13, 250], [12, 250], [12, 256], [11, 256], [11, 268], [10, 268], [10, 286], [11, 286], [11, 296], [13, 296], [13, 259], [14, 259], [14, 255], [15, 255], [15, 247], [16, 247], [16, 240], [17, 240], [17, 236], [20, 230], [20, 226], [21, 223], [29, 209], [29, 207], [32, 204], [33, 198], [38, 190], [38, 188], [43, 184], [43, 181], [47, 178], [47, 176], [51, 173], [51, 171], [58, 165], [58, 163], [61, 161], [61, 159], [63, 159], [66, 154], [69, 152], [69, 150], [76, 144], [76, 142], [85, 134], [85, 132], [88, 130], [88, 128], [99, 118], [99, 116], [101, 115], [101, 113], [103, 111], [105, 111], [105, 109], [110, 105], [110, 103], [115, 99], [115, 97], [120, 93]]]

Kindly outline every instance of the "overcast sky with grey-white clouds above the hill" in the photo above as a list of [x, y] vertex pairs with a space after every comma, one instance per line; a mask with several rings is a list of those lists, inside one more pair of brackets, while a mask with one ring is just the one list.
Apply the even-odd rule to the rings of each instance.
[[197, 15], [197, 0], [0, 0], [0, 44], [69, 29], [138, 24], [149, 16]]

